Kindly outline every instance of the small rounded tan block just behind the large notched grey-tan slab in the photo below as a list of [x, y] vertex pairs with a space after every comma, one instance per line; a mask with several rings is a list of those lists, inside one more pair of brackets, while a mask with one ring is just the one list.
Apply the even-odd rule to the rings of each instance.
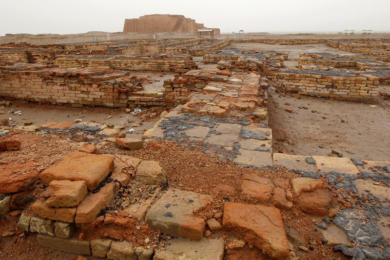
[[167, 182], [167, 173], [159, 162], [144, 160], [138, 164], [136, 180], [144, 184], [160, 185]]

